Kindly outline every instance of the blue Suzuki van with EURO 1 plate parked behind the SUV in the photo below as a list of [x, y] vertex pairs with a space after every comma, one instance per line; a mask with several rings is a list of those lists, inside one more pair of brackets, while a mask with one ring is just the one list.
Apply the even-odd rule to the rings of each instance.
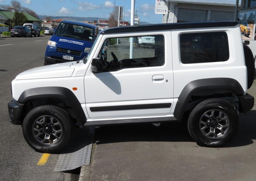
[[83, 22], [61, 21], [45, 51], [44, 65], [84, 58], [99, 33], [99, 28]]

